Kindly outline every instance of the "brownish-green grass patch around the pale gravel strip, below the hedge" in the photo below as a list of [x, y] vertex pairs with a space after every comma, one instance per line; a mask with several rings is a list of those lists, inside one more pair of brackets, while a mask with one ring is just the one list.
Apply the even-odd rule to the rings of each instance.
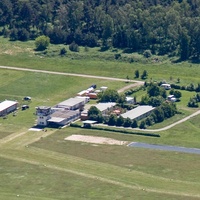
[[[200, 162], [198, 155], [159, 150], [145, 150], [141, 148], [117, 145], [93, 145], [90, 143], [64, 140], [65, 137], [71, 134], [93, 135], [108, 138], [111, 137], [130, 142], [160, 142], [160, 138], [116, 134], [112, 132], [106, 133], [94, 130], [74, 130], [73, 128], [67, 128], [59, 130], [55, 134], [39, 140], [38, 142], [32, 144], [32, 146], [81, 157], [87, 160], [109, 163], [130, 170], [138, 170], [140, 172], [160, 177], [199, 182], [198, 177], [200, 177], [200, 172], [198, 169]], [[177, 165], [176, 163], [179, 164]], [[189, 172], [188, 165], [190, 165]]]

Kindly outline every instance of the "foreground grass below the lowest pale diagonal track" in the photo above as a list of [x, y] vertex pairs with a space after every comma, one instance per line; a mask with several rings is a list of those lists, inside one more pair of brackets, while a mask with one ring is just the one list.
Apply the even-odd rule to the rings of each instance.
[[[42, 174], [42, 176], [41, 176]], [[121, 187], [72, 173], [18, 161], [1, 159], [0, 199], [187, 199], [187, 196], [159, 194]], [[190, 197], [190, 199], [198, 199]]]

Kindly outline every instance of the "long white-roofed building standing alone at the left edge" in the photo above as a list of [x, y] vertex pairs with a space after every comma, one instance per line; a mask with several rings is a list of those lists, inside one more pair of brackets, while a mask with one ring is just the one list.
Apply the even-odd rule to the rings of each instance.
[[0, 103], [0, 116], [4, 116], [17, 109], [18, 102], [5, 100]]

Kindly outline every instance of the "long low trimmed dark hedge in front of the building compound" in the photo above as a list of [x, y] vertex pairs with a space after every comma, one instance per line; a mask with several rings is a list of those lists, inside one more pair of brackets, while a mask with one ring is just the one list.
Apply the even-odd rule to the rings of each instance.
[[[85, 128], [85, 127], [82, 127], [81, 125], [78, 125], [78, 124], [70, 124], [70, 126], [76, 127], [76, 128]], [[133, 131], [128, 131], [126, 129], [117, 130], [117, 129], [109, 129], [109, 128], [106, 128], [106, 127], [96, 127], [96, 126], [91, 126], [90, 128], [85, 128], [85, 129], [94, 129], [94, 130], [110, 131], [110, 132], [117, 132], [117, 133], [124, 133], [124, 134], [134, 134], [134, 135], [150, 136], [150, 137], [160, 137], [159, 134], [155, 134], [155, 133], [133, 132]]]

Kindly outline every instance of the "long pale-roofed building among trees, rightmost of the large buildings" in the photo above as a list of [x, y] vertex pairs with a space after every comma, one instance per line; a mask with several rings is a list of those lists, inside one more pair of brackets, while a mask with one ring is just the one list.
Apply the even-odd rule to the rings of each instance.
[[129, 110], [128, 112], [121, 114], [123, 118], [130, 118], [135, 120], [140, 120], [144, 117], [147, 117], [151, 114], [151, 112], [155, 108], [152, 106], [138, 106], [137, 108], [134, 108], [132, 110]]

